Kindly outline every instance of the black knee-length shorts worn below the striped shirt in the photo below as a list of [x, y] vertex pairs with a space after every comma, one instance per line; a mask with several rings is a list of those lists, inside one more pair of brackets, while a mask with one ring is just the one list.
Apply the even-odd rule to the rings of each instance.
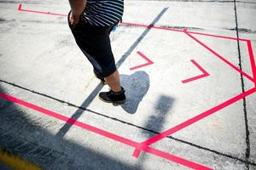
[[84, 22], [81, 16], [76, 26], [71, 26], [69, 20], [68, 26], [79, 48], [87, 59], [89, 59], [91, 65], [93, 65], [96, 77], [103, 78], [113, 74], [116, 71], [116, 65], [110, 45], [109, 34], [115, 25], [91, 26]]

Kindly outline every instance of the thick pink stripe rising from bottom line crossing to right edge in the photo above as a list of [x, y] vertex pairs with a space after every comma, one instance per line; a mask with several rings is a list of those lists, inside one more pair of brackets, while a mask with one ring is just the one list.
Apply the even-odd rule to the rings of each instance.
[[176, 127], [172, 127], [163, 133], [160, 133], [150, 139], [145, 140], [143, 143], [140, 144], [140, 146], [136, 150], [134, 150], [133, 156], [138, 157], [140, 154], [140, 151], [143, 150], [143, 148], [145, 148], [146, 146], [148, 146], [150, 144], [154, 144], [155, 142], [159, 141], [160, 139], [164, 139], [167, 136], [170, 136], [172, 133], [176, 133], [177, 131], [183, 129], [184, 127], [189, 127], [189, 125], [191, 125], [195, 122], [198, 122], [201, 119], [203, 119], [207, 116], [210, 116], [213, 113], [220, 111], [220, 110], [224, 109], [225, 107], [227, 107], [228, 105], [231, 105], [231, 104], [235, 103], [236, 101], [247, 97], [247, 95], [253, 94], [255, 92], [256, 92], [256, 88], [249, 89], [243, 94], [239, 94], [236, 97], [229, 99], [229, 100], [225, 101], [224, 103], [217, 105], [208, 111], [202, 112], [200, 115], [195, 116], [195, 117], [189, 119], [188, 121], [178, 124]]

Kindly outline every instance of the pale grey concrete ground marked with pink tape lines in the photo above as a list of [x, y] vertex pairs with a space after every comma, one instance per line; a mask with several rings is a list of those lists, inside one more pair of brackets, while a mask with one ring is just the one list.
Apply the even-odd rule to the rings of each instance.
[[[26, 10], [69, 11], [63, 0], [0, 1], [0, 92], [78, 122], [141, 143], [255, 88], [255, 80], [230, 67], [253, 77], [247, 42], [190, 34], [227, 65], [183, 32], [251, 40], [255, 52], [253, 0], [125, 1], [125, 23], [157, 27], [124, 23], [111, 34], [127, 95], [119, 106], [97, 98], [108, 87], [94, 77], [67, 18], [19, 11], [20, 3]], [[138, 51], [154, 64], [131, 71], [146, 62]], [[191, 59], [210, 76], [183, 83], [201, 75]], [[255, 105], [254, 92], [151, 147], [213, 169], [256, 169]], [[7, 99], [0, 98], [0, 112], [0, 146], [44, 169], [189, 169], [144, 151], [136, 158], [127, 144]]]

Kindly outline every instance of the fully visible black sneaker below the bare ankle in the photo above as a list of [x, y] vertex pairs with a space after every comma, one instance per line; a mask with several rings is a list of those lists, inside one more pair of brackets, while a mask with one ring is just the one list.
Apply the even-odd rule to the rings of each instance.
[[124, 104], [126, 100], [125, 90], [122, 88], [120, 92], [113, 92], [112, 90], [108, 92], [101, 92], [99, 94], [99, 98], [107, 103]]

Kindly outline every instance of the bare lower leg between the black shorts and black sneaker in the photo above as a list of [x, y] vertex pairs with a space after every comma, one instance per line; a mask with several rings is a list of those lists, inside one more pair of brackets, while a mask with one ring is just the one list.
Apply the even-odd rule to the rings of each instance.
[[105, 77], [105, 81], [108, 83], [109, 88], [111, 88], [113, 92], [120, 92], [122, 90], [118, 70], [114, 71], [112, 75]]

